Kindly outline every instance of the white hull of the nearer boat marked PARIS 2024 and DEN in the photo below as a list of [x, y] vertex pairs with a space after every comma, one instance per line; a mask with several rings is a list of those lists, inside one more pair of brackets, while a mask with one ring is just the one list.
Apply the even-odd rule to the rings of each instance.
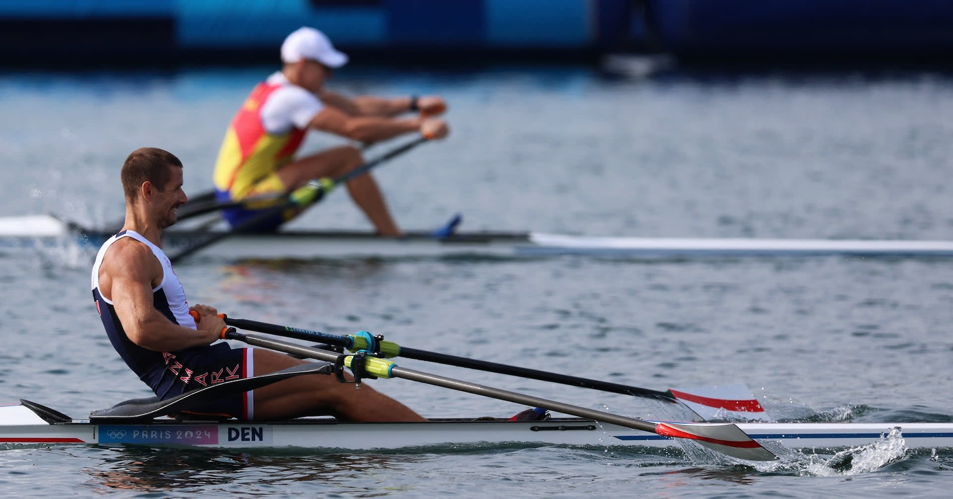
[[[44, 407], [37, 409], [38, 405], [29, 402], [24, 404], [0, 406], [0, 445], [129, 444], [352, 450], [461, 445], [679, 448], [676, 439], [579, 418], [525, 422], [439, 419], [426, 423], [342, 423], [331, 418], [300, 418], [271, 423], [172, 419], [94, 423], [73, 420], [55, 411], [45, 412]], [[953, 423], [738, 423], [737, 426], [768, 447], [772, 443], [805, 450], [860, 447], [887, 437], [902, 437], [907, 448], [953, 447]]]

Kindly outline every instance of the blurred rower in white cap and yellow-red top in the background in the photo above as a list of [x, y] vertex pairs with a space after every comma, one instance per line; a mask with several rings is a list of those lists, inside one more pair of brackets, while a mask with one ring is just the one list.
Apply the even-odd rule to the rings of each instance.
[[[325, 90], [325, 80], [348, 62], [348, 56], [335, 50], [321, 31], [300, 28], [289, 34], [281, 45], [281, 60], [281, 71], [254, 87], [225, 134], [213, 175], [220, 201], [293, 193], [307, 189], [304, 186], [311, 179], [340, 177], [363, 163], [360, 150], [353, 146], [295, 158], [308, 129], [364, 143], [415, 132], [431, 139], [449, 133], [446, 122], [434, 117], [447, 109], [439, 96], [346, 97]], [[413, 117], [396, 117], [417, 112]], [[374, 177], [355, 177], [348, 182], [348, 191], [378, 235], [400, 236]], [[250, 202], [223, 215], [235, 227], [275, 202], [280, 201]], [[271, 232], [306, 207], [295, 206], [243, 228]]]

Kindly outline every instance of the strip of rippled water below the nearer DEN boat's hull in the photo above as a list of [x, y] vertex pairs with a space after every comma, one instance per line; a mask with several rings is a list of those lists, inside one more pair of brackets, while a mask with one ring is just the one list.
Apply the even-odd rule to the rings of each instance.
[[[699, 490], [694, 488], [705, 486], [701, 495], [710, 497], [718, 487], [744, 486], [740, 492], [721, 492], [733, 497], [777, 497], [777, 487], [788, 489], [782, 486], [787, 483], [783, 479], [865, 477], [876, 484], [901, 474], [904, 481], [913, 481], [908, 486], [916, 496], [917, 490], [935, 491], [935, 485], [928, 482], [949, 470], [950, 462], [949, 449], [904, 452], [902, 440], [891, 439], [837, 454], [791, 451], [780, 461], [759, 464], [720, 458], [696, 460], [677, 449], [654, 447], [449, 446], [357, 453], [21, 447], [0, 450], [0, 487], [15, 486], [27, 495], [43, 492], [42, 497], [82, 491], [122, 491], [147, 497], [314, 492], [355, 497], [513, 497], [527, 491], [539, 492], [532, 496], [607, 497], [622, 490], [636, 494], [633, 496], [686, 497], [697, 495]], [[61, 471], [38, 472], [41, 469]], [[919, 486], [918, 480], [922, 482]], [[804, 489], [789, 489], [790, 496], [818, 497], [817, 488], [829, 484], [799, 483]], [[715, 489], [709, 489], [711, 486]], [[772, 490], [774, 493], [768, 493]]]

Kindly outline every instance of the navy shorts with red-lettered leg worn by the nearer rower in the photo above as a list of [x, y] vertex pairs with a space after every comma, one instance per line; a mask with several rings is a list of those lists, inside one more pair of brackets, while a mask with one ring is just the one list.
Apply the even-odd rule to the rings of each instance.
[[[165, 360], [161, 378], [153, 388], [163, 400], [194, 389], [254, 375], [252, 349], [232, 348], [228, 343], [189, 348], [177, 354], [165, 352]], [[254, 416], [252, 393], [239, 393], [183, 412], [249, 421]]]

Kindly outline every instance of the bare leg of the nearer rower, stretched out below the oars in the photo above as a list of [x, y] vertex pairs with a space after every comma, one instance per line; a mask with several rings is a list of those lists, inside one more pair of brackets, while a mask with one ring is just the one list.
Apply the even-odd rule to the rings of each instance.
[[[261, 348], [253, 349], [254, 373], [265, 374], [305, 361]], [[350, 379], [350, 378], [349, 378]], [[339, 383], [334, 375], [297, 376], [254, 390], [256, 421], [300, 416], [334, 416], [342, 421], [426, 421], [419, 414], [369, 385]]]

